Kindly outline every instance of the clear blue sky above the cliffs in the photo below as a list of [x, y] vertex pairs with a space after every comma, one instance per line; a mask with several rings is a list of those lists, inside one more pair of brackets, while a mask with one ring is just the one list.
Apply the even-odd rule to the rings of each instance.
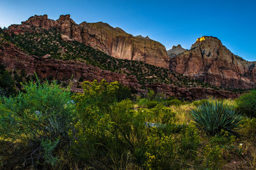
[[198, 37], [216, 36], [234, 54], [256, 60], [255, 0], [8, 0], [0, 5], [0, 26], [44, 14], [54, 20], [70, 14], [77, 24], [107, 22], [134, 36], [149, 36], [166, 50], [177, 44], [189, 49]]

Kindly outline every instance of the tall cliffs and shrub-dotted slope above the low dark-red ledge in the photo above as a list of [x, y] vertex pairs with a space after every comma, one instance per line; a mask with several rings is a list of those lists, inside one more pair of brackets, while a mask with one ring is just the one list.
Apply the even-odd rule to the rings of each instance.
[[[234, 55], [222, 45], [220, 39], [212, 36], [196, 39], [190, 50], [180, 45], [173, 46], [168, 50], [168, 54], [171, 53], [168, 56], [165, 47], [148, 36], [132, 36], [119, 27], [114, 28], [104, 22], [76, 24], [70, 15], [60, 15], [58, 20], [51, 20], [47, 15], [35, 15], [22, 24], [10, 25], [4, 32], [8, 32], [12, 43], [36, 57], [83, 62], [86, 60], [86, 64], [99, 66], [103, 70], [136, 75], [143, 88], [158, 83], [157, 91], [157, 88], [161, 89], [159, 85], [162, 84], [160, 86], [165, 90], [158, 90], [159, 92], [168, 93], [166, 85], [185, 89], [195, 87], [198, 85], [193, 83], [195, 80], [207, 83], [199, 87], [213, 89], [255, 88], [255, 63]], [[79, 43], [118, 60], [113, 60], [103, 53], [92, 52], [90, 48]], [[176, 73], [184, 77], [180, 78]], [[167, 89], [170, 90], [169, 87]]]

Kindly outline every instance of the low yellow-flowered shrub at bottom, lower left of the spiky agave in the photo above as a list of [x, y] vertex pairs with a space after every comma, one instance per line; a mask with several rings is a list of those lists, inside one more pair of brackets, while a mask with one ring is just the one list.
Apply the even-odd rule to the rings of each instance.
[[145, 141], [147, 169], [189, 169], [188, 162], [196, 160], [199, 136], [193, 127], [185, 127], [180, 136], [164, 134], [153, 129]]

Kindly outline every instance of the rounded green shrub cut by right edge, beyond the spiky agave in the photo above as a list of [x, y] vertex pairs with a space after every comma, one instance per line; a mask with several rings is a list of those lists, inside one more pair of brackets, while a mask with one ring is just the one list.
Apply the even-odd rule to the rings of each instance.
[[248, 117], [256, 117], [256, 90], [242, 94], [237, 100], [237, 110]]

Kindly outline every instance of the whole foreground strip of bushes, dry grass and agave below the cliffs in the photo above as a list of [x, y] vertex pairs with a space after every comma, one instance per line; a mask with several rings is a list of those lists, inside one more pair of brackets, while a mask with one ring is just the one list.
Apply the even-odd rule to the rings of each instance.
[[254, 91], [187, 102], [106, 80], [84, 81], [82, 94], [27, 82], [1, 93], [1, 169], [256, 168]]

